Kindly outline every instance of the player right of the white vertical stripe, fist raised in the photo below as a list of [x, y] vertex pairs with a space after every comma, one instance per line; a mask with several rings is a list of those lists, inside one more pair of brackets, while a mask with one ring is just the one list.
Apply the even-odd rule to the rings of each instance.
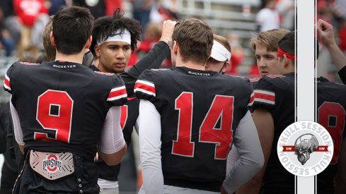
[[[333, 26], [324, 20], [318, 20], [316, 28], [321, 42], [333, 57], [342, 82], [346, 83], [346, 56], [335, 42]], [[318, 123], [328, 130], [334, 144], [332, 161], [317, 175], [317, 190], [318, 193], [341, 194], [346, 190], [346, 86], [331, 83], [322, 77], [317, 79], [316, 84]]]

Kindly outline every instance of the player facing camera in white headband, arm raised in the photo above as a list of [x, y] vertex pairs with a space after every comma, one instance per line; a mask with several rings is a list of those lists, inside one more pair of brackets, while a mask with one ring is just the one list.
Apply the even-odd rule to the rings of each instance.
[[[133, 93], [133, 86], [129, 85], [137, 80], [142, 71], [148, 68], [159, 68], [163, 59], [169, 55], [168, 42], [171, 42], [174, 25], [175, 22], [171, 20], [163, 22], [161, 40], [151, 49], [149, 54], [125, 72], [129, 57], [137, 47], [137, 41], [139, 41], [141, 34], [139, 22], [122, 17], [119, 9], [115, 11], [114, 16], [98, 18], [95, 20], [92, 33], [93, 42], [91, 44], [91, 51], [98, 59], [98, 66], [93, 65], [91, 69], [93, 71], [119, 73], [125, 80], [126, 86], [132, 89], [129, 89], [128, 93]], [[131, 141], [134, 123], [137, 120], [138, 107], [139, 99], [133, 96], [129, 96], [127, 103], [122, 106], [121, 126], [127, 146]], [[97, 164], [100, 193], [118, 193], [120, 164], [108, 166], [102, 160], [98, 161]]]

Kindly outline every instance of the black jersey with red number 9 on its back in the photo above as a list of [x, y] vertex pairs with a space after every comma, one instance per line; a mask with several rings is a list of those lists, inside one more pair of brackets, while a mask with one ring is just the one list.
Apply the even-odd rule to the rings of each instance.
[[4, 88], [18, 111], [25, 149], [91, 160], [108, 110], [127, 101], [120, 76], [66, 61], [14, 63]]

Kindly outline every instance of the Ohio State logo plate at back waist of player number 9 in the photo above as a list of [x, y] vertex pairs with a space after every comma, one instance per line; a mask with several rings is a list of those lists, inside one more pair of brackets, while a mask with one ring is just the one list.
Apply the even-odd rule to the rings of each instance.
[[30, 150], [33, 171], [48, 180], [56, 180], [74, 173], [74, 156], [69, 152], [37, 152]]

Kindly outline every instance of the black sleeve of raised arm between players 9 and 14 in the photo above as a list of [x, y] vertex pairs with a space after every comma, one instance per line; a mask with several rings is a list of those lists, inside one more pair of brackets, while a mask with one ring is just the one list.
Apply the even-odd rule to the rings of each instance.
[[168, 44], [163, 41], [159, 41], [155, 46], [146, 54], [141, 60], [139, 60], [132, 68], [127, 72], [121, 73], [122, 80], [124, 80], [127, 90], [127, 95], [134, 95], [134, 83], [141, 73], [146, 69], [160, 68], [163, 59], [171, 54]]

